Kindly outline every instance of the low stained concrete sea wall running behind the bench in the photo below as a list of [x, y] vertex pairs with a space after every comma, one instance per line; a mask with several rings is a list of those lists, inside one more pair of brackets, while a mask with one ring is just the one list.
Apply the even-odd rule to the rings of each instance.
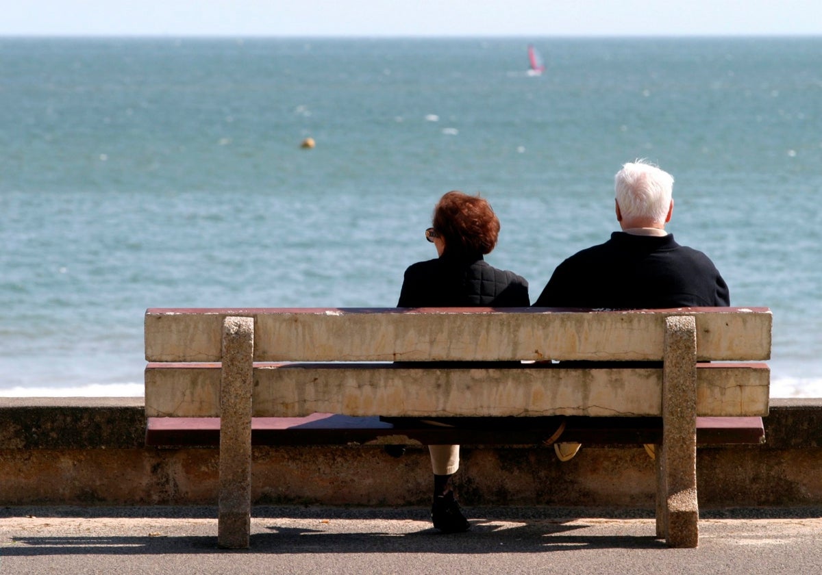
[[[700, 508], [822, 504], [822, 399], [774, 399], [766, 443], [700, 447]], [[144, 443], [141, 398], [0, 398], [0, 504], [216, 504], [216, 449]], [[427, 505], [427, 450], [255, 447], [255, 504]], [[463, 449], [465, 504], [653, 509], [641, 448]]]

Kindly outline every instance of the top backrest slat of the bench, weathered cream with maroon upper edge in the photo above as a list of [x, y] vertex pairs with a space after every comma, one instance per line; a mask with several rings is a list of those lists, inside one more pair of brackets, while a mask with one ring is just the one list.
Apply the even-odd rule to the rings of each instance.
[[767, 360], [771, 347], [768, 308], [150, 309], [146, 360], [219, 361], [227, 315], [255, 318], [255, 361], [655, 361], [669, 315], [695, 315], [700, 361]]

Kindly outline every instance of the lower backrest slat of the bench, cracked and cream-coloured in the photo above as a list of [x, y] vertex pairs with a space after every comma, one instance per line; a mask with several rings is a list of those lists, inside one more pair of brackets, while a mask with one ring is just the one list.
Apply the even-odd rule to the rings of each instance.
[[[439, 369], [402, 364], [257, 364], [253, 416], [659, 416], [662, 369]], [[219, 364], [152, 363], [146, 416], [219, 416]], [[764, 416], [769, 368], [701, 364], [697, 415]], [[435, 392], [436, 390], [436, 392]]]

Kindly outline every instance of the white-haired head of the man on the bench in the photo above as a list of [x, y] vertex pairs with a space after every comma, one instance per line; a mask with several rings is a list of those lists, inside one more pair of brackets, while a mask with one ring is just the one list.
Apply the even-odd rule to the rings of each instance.
[[614, 177], [617, 220], [622, 229], [664, 228], [673, 212], [673, 176], [637, 160]]

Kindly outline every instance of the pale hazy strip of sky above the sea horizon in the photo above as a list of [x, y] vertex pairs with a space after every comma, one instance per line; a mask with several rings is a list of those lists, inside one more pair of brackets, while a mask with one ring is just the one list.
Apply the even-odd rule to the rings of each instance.
[[18, 0], [0, 35], [822, 35], [822, 0]]

